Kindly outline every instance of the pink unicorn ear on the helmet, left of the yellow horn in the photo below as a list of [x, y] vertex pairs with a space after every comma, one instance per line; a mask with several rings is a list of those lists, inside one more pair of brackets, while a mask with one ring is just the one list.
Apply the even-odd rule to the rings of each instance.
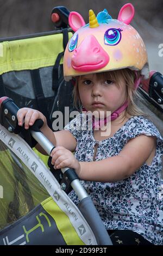
[[85, 21], [82, 15], [80, 15], [76, 11], [71, 11], [68, 17], [68, 23], [74, 32], [76, 32], [79, 28], [85, 26]]

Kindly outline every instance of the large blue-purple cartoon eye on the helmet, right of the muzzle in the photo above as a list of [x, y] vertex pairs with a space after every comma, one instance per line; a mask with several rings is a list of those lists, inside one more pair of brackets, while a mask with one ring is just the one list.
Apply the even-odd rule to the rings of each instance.
[[121, 28], [109, 28], [104, 34], [105, 45], [117, 45], [121, 41]]

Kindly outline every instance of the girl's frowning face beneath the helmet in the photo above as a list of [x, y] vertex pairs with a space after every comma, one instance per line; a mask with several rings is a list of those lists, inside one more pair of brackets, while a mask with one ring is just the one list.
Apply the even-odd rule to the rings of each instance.
[[127, 99], [126, 82], [120, 75], [120, 86], [109, 78], [99, 79], [97, 75], [83, 75], [78, 78], [79, 96], [87, 111], [111, 113], [121, 107]]

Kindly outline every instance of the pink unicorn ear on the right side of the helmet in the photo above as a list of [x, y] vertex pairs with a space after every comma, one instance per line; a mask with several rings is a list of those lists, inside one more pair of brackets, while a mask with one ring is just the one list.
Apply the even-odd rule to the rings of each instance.
[[133, 20], [135, 15], [135, 9], [133, 7], [133, 4], [124, 4], [123, 7], [120, 10], [120, 13], [118, 14], [118, 21], [122, 21], [126, 24], [129, 24], [131, 20]]

